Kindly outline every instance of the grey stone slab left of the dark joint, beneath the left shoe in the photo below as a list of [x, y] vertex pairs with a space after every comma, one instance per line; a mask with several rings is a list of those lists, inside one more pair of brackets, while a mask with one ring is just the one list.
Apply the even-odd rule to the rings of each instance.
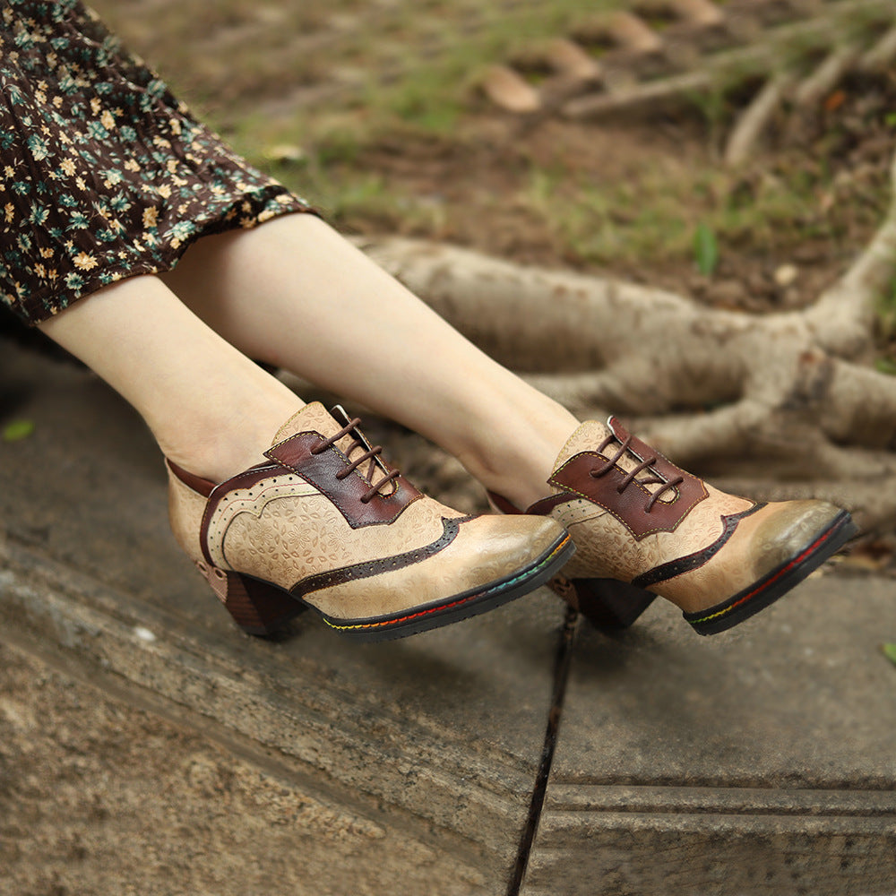
[[250, 638], [168, 532], [164, 470], [133, 411], [73, 367], [8, 345], [0, 365], [7, 418], [18, 401], [14, 416], [36, 424], [0, 444], [0, 626], [280, 751], [310, 792], [387, 819], [503, 891], [542, 748], [559, 602], [542, 591], [382, 645], [343, 642], [312, 613], [280, 641]]

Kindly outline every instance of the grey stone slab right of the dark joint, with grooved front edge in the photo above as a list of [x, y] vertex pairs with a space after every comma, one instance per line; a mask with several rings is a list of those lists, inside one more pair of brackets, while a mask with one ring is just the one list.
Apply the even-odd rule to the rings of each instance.
[[701, 639], [582, 627], [526, 896], [891, 893], [896, 583], [806, 582]]

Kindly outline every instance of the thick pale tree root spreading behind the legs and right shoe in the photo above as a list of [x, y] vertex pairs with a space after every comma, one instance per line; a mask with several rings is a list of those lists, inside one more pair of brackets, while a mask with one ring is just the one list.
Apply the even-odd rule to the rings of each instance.
[[874, 303], [896, 267], [896, 204], [813, 306], [764, 316], [450, 246], [361, 245], [579, 415], [623, 415], [676, 461], [742, 493], [827, 496], [866, 530], [896, 526], [896, 378], [869, 366]]

